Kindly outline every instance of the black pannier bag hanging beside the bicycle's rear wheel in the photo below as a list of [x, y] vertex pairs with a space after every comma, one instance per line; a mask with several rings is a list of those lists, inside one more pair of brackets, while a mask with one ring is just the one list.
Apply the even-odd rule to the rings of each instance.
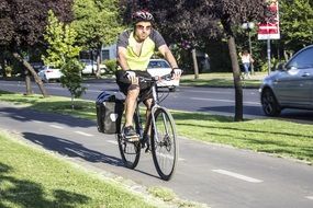
[[102, 92], [96, 101], [97, 127], [100, 132], [116, 134], [124, 111], [124, 100], [114, 94]]

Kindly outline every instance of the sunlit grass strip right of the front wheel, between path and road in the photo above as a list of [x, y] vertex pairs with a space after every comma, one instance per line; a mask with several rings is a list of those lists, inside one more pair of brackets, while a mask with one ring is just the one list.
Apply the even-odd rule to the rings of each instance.
[[180, 136], [313, 162], [312, 125], [172, 112]]

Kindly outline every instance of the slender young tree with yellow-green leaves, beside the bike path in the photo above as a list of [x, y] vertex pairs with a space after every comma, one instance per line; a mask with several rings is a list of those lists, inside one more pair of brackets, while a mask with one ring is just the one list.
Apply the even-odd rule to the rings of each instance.
[[48, 12], [48, 24], [44, 34], [48, 43], [47, 56], [43, 57], [45, 65], [62, 68], [62, 86], [67, 88], [71, 95], [71, 107], [74, 97], [80, 97], [86, 91], [81, 85], [82, 66], [78, 61], [81, 48], [76, 46], [77, 33], [70, 24], [60, 22], [51, 10]]

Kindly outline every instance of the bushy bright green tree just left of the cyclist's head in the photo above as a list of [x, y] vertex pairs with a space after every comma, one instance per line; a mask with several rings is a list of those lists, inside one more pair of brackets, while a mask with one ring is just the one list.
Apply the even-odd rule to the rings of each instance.
[[97, 51], [97, 77], [100, 77], [100, 53], [123, 30], [119, 22], [116, 0], [76, 0], [74, 27], [85, 50]]

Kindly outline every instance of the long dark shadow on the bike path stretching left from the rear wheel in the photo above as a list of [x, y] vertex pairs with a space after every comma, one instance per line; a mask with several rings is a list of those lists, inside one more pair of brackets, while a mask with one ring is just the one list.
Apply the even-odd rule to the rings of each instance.
[[81, 158], [93, 163], [103, 162], [115, 166], [123, 165], [122, 160], [119, 158], [85, 148], [82, 145], [71, 140], [33, 132], [23, 132], [23, 136], [33, 143], [42, 146], [47, 150], [58, 152], [62, 155], [67, 155], [69, 158]]

